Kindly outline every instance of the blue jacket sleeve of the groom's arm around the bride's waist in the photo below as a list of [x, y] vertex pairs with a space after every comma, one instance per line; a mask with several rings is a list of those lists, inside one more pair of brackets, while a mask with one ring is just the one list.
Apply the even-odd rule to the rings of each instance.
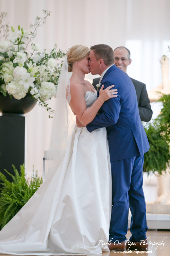
[[[107, 88], [108, 86], [112, 85], [110, 82], [105, 82], [104, 87]], [[114, 89], [117, 89], [116, 86]], [[109, 100], [105, 101], [100, 109], [101, 114], [97, 115], [91, 123], [89, 123], [86, 127], [89, 132], [92, 132], [95, 129], [101, 127], [107, 127], [117, 123], [119, 119], [119, 114], [121, 110], [120, 105], [120, 94], [117, 93], [116, 98], [110, 98]]]

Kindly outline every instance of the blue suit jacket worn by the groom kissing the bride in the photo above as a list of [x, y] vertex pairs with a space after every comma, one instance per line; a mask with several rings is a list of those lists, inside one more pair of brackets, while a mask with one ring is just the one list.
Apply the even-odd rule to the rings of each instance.
[[136, 91], [128, 75], [115, 65], [104, 74], [101, 85], [114, 84], [117, 97], [105, 101], [94, 120], [86, 127], [89, 132], [106, 127], [110, 160], [118, 161], [142, 155], [149, 143], [139, 116]]

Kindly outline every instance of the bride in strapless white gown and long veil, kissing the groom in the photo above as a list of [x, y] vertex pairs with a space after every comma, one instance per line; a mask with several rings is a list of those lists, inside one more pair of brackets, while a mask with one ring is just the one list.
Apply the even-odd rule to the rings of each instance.
[[[113, 86], [96, 91], [84, 80], [90, 50], [70, 48], [60, 72], [45, 182], [0, 231], [0, 253], [13, 255], [97, 254], [109, 251], [111, 169], [105, 128], [86, 125]], [[72, 76], [69, 80], [69, 72]], [[110, 90], [109, 90], [110, 89]], [[113, 95], [112, 95], [113, 94]], [[72, 112], [70, 111], [72, 110]], [[73, 118], [74, 116], [74, 118]], [[73, 127], [75, 126], [75, 127]]]

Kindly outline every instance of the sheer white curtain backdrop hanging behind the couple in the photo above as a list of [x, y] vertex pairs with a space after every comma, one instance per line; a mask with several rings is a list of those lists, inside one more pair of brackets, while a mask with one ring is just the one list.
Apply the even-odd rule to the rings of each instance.
[[[113, 49], [125, 46], [132, 58], [128, 75], [146, 83], [148, 91], [161, 83], [159, 60], [170, 45], [169, 0], [0, 0], [0, 10], [8, 12], [6, 21], [14, 28], [20, 25], [29, 30], [36, 15], [43, 17], [42, 9], [51, 11], [34, 39], [42, 49], [55, 44], [63, 51], [75, 44], [108, 44]], [[87, 75], [91, 81], [95, 77], [98, 76]], [[54, 99], [50, 106], [54, 107]], [[156, 109], [155, 103], [152, 108]], [[26, 173], [30, 176], [34, 165], [34, 170], [42, 175], [52, 119], [38, 105], [25, 116]]]

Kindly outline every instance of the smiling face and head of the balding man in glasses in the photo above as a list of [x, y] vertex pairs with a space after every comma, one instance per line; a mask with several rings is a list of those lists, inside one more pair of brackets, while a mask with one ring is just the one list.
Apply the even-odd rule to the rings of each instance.
[[126, 73], [127, 66], [130, 65], [128, 51], [125, 48], [117, 48], [114, 50], [114, 64]]

